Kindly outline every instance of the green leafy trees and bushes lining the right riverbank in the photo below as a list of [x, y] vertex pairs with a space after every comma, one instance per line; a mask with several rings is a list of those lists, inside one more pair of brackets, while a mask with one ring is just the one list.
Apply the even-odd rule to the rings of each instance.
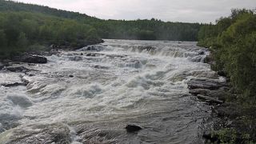
[[198, 46], [210, 48], [214, 58], [212, 69], [224, 72], [234, 93], [227, 95], [234, 111], [233, 127], [218, 131], [226, 143], [254, 143], [256, 138], [256, 14], [254, 10], [232, 10], [216, 25], [202, 26]]

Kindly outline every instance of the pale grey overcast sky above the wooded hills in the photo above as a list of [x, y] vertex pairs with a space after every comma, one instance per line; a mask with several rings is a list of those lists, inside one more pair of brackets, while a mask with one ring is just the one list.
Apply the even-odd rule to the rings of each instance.
[[232, 8], [254, 9], [256, 0], [18, 0], [103, 19], [158, 18], [170, 22], [215, 22]]

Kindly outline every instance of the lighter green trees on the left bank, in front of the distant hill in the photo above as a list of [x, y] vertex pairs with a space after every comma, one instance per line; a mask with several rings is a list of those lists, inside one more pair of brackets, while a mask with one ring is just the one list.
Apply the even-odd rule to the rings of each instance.
[[0, 13], [0, 55], [9, 58], [50, 45], [80, 48], [101, 42], [94, 27], [71, 19], [30, 12]]

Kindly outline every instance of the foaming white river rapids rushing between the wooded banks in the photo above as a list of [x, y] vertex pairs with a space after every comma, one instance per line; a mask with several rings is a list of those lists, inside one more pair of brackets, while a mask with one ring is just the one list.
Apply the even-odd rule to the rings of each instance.
[[29, 84], [0, 87], [0, 143], [202, 143], [210, 107], [186, 82], [216, 77], [206, 54], [195, 42], [106, 40], [2, 71], [2, 83]]

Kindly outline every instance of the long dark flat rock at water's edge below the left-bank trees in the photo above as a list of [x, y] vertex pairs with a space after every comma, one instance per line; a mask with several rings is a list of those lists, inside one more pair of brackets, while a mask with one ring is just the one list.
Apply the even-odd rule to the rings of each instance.
[[27, 63], [47, 63], [47, 58], [40, 55], [16, 56], [12, 60], [17, 62], [27, 62]]

